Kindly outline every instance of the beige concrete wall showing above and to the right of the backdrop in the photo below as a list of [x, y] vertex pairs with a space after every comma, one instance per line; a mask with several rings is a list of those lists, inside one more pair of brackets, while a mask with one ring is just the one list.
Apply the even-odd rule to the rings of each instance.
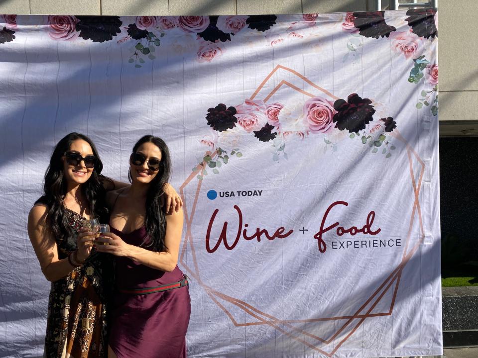
[[[409, 2], [403, 0], [399, 2]], [[426, 0], [419, 0], [426, 2]], [[0, 0], [0, 13], [226, 15], [365, 11], [373, 0]], [[388, 0], [382, 0], [382, 8]], [[477, 0], [439, 1], [442, 135], [478, 128]], [[473, 26], [473, 27], [472, 27]], [[473, 30], [472, 30], [473, 29]], [[475, 122], [477, 121], [477, 122]]]

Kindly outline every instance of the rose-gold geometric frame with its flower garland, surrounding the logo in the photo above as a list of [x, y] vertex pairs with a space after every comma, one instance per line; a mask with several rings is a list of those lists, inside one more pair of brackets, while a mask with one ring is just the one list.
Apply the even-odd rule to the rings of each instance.
[[[257, 100], [256, 97], [262, 93], [262, 89], [264, 89], [266, 83], [278, 72], [292, 73], [299, 81], [303, 81], [311, 88], [319, 90], [321, 96], [305, 91], [297, 86], [297, 84], [282, 80], [272, 91], [264, 96], [264, 100]], [[276, 126], [272, 124], [276, 124], [279, 128], [281, 127], [281, 117], [277, 115], [277, 112], [283, 110], [286, 105], [282, 105], [281, 103], [273, 103], [273, 106], [266, 104], [274, 93], [283, 86], [294, 89], [298, 93], [305, 94], [311, 98], [307, 99], [302, 106], [299, 121], [302, 121], [301, 125], [309, 127], [303, 136], [296, 134], [299, 140], [306, 140], [316, 134], [325, 136], [331, 132], [338, 131], [339, 133], [348, 134], [348, 138], [350, 139], [358, 137], [363, 144], [368, 144], [369, 146], [371, 144], [371, 151], [375, 153], [377, 152], [376, 149], [380, 146], [384, 146], [384, 149], [387, 150], [394, 150], [394, 146], [388, 141], [388, 137], [399, 140], [406, 148], [410, 168], [410, 179], [414, 188], [414, 197], [411, 202], [412, 214], [402, 261], [385, 277], [383, 282], [381, 282], [373, 292], [370, 292], [368, 299], [366, 299], [352, 315], [294, 320], [279, 319], [267, 312], [257, 309], [251, 303], [221, 292], [204, 281], [201, 276], [191, 227], [198, 204], [201, 184], [207, 168], [212, 168], [213, 172], [217, 174], [219, 173], [218, 168], [221, 167], [221, 163], [229, 163], [230, 157], [228, 156], [228, 152], [218, 147], [218, 142], [220, 142], [219, 136], [223, 133], [228, 133], [230, 130], [240, 130], [242, 134], [254, 133], [254, 138], [260, 142], [275, 141], [281, 139], [281, 137], [282, 140], [285, 141], [283, 139], [283, 133], [285, 132], [281, 132], [280, 129], [275, 130]], [[335, 101], [332, 101], [334, 99]], [[212, 301], [231, 319], [236, 327], [268, 325], [313, 351], [324, 354], [327, 357], [333, 357], [337, 350], [357, 331], [366, 319], [392, 315], [402, 271], [424, 239], [419, 193], [425, 165], [415, 150], [399, 133], [397, 124], [393, 118], [384, 117], [375, 119], [375, 113], [376, 110], [370, 99], [361, 98], [356, 93], [349, 95], [347, 100], [338, 98], [327, 90], [318, 87], [298, 72], [280, 65], [265, 78], [253, 95], [242, 105], [227, 107], [224, 104], [218, 104], [216, 107], [208, 110], [208, 114], [206, 115], [207, 124], [209, 124], [214, 131], [218, 132], [218, 138], [216, 142], [211, 141], [211, 138], [203, 139], [203, 143], [208, 145], [210, 150], [204, 156], [202, 163], [193, 168], [190, 176], [180, 186], [187, 227], [185, 240], [181, 247], [180, 262], [188, 273], [197, 280]], [[309, 116], [312, 117], [312, 119]], [[278, 121], [274, 122], [276, 119], [278, 119]], [[266, 121], [266, 123], [261, 123], [261, 120]], [[272, 124], [268, 122], [269, 120]], [[269, 130], [269, 127], [273, 128]], [[317, 131], [314, 132], [315, 129], [317, 129]], [[264, 132], [267, 132], [266, 135], [263, 134]], [[324, 140], [326, 143], [328, 142], [328, 139]], [[377, 143], [377, 141], [379, 143]], [[229, 143], [233, 144], [233, 149], [229, 152], [229, 155], [236, 155], [239, 158], [242, 157], [241, 152], [238, 152], [238, 149], [234, 148], [235, 141], [232, 140], [229, 141]], [[332, 146], [334, 145], [332, 142], [330, 144]], [[285, 144], [282, 143], [278, 151], [283, 152], [284, 148]], [[383, 151], [383, 154], [385, 154], [385, 151]], [[390, 153], [385, 156], [389, 158], [389, 154]], [[283, 156], [286, 158], [285, 153]], [[276, 160], [276, 158], [274, 158], [274, 160]], [[415, 173], [417, 170], [418, 178]], [[191, 203], [186, 200], [184, 190], [194, 179], [198, 180], [194, 199]], [[416, 220], [418, 220], [420, 227], [420, 237], [418, 240], [412, 239], [412, 228]], [[191, 253], [192, 266], [186, 260], [187, 251]], [[246, 313], [249, 320], [244, 320], [243, 315], [239, 317], [235, 316], [237, 308]], [[317, 333], [318, 330], [322, 333]]]

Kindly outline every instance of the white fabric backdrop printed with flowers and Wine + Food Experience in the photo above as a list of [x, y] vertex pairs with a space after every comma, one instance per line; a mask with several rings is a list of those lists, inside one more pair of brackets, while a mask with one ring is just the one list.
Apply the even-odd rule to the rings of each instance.
[[190, 357], [442, 354], [437, 13], [0, 17], [0, 356], [42, 355], [26, 232], [78, 131], [169, 145]]

